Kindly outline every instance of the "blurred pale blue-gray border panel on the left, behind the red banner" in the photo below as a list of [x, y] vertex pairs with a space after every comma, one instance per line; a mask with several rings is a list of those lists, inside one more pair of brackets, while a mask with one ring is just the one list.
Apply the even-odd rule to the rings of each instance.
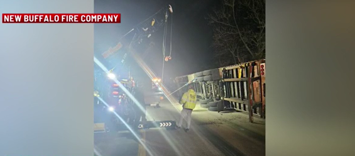
[[[93, 13], [94, 1], [1, 0], [0, 12]], [[93, 155], [93, 43], [93, 24], [0, 23], [0, 156]]]

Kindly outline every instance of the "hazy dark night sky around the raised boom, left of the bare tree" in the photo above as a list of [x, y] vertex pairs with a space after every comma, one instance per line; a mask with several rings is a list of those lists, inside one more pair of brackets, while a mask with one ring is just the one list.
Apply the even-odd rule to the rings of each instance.
[[[115, 46], [119, 38], [135, 25], [168, 4], [173, 8], [172, 56], [165, 63], [164, 79], [213, 68], [212, 28], [205, 17], [220, 0], [95, 0], [95, 13], [121, 13], [120, 24], [95, 25], [95, 53]], [[170, 17], [169, 17], [170, 18]], [[155, 46], [145, 59], [149, 67], [161, 76], [164, 28], [152, 34]], [[170, 29], [168, 27], [168, 33]], [[168, 38], [169, 39], [169, 38]], [[169, 42], [169, 40], [168, 40]], [[167, 53], [169, 44], [167, 44]], [[133, 47], [134, 48], [134, 47]]]

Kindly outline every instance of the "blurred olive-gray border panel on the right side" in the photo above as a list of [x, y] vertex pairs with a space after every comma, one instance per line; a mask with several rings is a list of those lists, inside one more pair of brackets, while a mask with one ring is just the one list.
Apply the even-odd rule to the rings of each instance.
[[355, 1], [266, 1], [267, 156], [354, 156]]

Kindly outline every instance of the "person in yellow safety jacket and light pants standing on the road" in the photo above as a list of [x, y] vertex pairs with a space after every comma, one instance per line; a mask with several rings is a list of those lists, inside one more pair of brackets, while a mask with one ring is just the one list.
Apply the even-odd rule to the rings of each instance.
[[176, 124], [176, 129], [181, 128], [181, 125], [183, 124], [183, 120], [186, 119], [188, 125], [185, 129], [185, 132], [188, 132], [191, 124], [191, 113], [196, 106], [196, 100], [197, 100], [196, 93], [193, 90], [193, 86], [190, 84], [188, 86], [188, 91], [184, 93], [183, 97], [180, 100], [180, 104], [183, 105], [183, 110], [181, 111], [180, 120]]

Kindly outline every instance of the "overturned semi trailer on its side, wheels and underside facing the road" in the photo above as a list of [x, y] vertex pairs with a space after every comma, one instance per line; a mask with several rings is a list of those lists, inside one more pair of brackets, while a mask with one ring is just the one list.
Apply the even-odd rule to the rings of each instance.
[[[201, 107], [209, 111], [237, 110], [265, 118], [265, 59], [206, 70], [174, 80], [178, 88], [192, 83]], [[187, 87], [177, 92], [181, 98]]]

